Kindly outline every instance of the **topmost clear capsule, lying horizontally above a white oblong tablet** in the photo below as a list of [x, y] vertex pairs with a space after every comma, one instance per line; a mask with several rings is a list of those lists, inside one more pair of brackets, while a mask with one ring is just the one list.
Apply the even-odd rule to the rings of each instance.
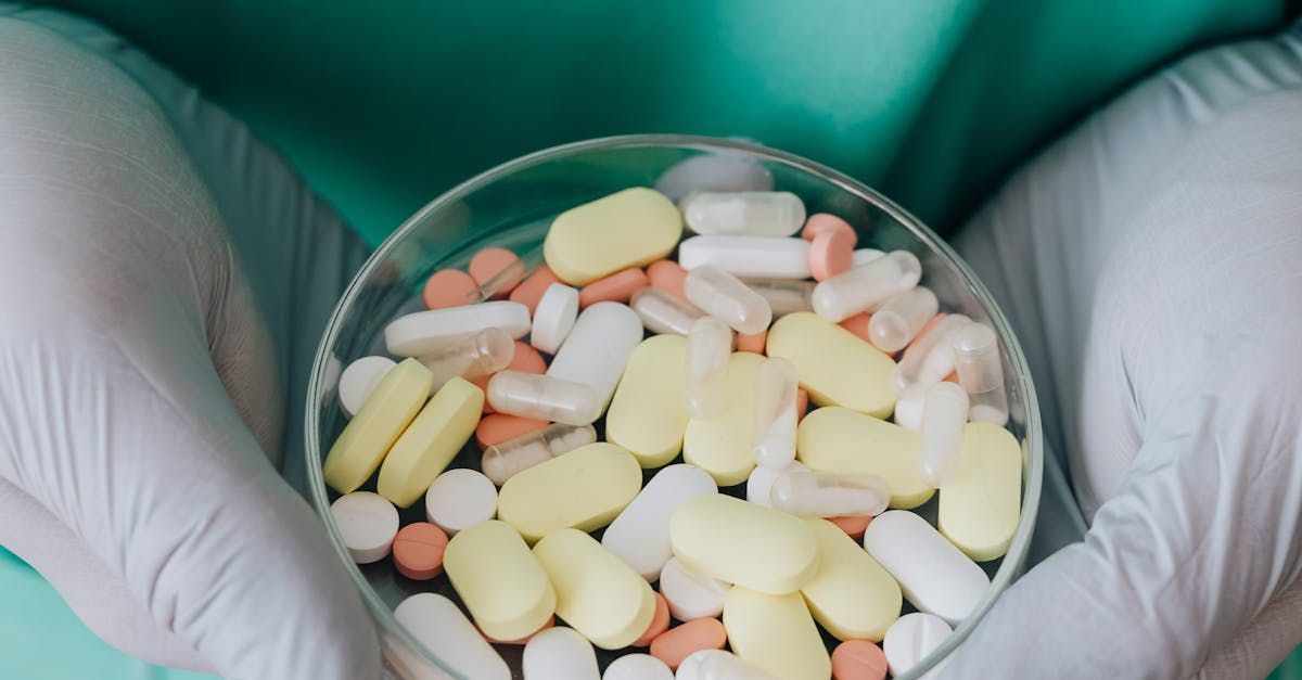
[[700, 234], [781, 237], [805, 224], [805, 203], [790, 191], [695, 191], [678, 207]]

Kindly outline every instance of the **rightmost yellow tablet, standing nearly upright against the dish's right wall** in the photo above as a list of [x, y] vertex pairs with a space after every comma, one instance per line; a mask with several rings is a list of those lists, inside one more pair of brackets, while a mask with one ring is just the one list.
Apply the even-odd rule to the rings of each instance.
[[1008, 552], [1022, 512], [1022, 447], [1008, 430], [970, 422], [958, 474], [940, 489], [936, 525], [976, 561]]

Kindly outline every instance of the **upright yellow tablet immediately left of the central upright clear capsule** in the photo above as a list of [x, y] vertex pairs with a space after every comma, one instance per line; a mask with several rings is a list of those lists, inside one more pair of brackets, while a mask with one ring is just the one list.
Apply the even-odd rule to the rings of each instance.
[[605, 439], [631, 451], [643, 468], [665, 465], [682, 451], [686, 363], [686, 337], [656, 335], [643, 340], [624, 367], [605, 414]]

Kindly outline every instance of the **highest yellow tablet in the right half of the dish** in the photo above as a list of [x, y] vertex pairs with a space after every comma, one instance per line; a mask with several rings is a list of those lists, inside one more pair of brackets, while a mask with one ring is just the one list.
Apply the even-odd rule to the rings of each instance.
[[796, 365], [801, 387], [819, 406], [845, 406], [885, 418], [894, 410], [894, 361], [814, 314], [788, 314], [768, 330], [766, 352]]

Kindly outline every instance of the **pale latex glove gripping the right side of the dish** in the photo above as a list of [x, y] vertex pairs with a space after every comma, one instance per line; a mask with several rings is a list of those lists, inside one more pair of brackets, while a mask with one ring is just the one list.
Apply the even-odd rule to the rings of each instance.
[[1294, 30], [1159, 73], [962, 236], [1092, 526], [945, 677], [1263, 677], [1302, 642], [1299, 55]]

